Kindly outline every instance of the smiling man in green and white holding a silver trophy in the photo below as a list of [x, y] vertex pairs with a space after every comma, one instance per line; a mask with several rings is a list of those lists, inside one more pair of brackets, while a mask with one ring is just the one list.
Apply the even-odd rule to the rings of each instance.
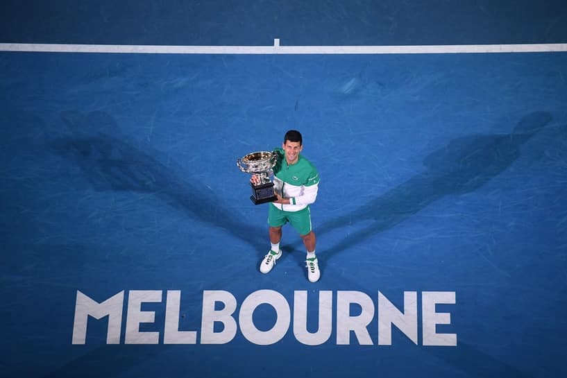
[[[303, 138], [296, 130], [286, 132], [282, 148], [273, 152], [246, 155], [237, 165], [247, 173], [253, 188], [251, 200], [256, 205], [269, 204], [268, 225], [271, 248], [260, 264], [260, 272], [269, 273], [282, 255], [280, 240], [282, 226], [290, 223], [303, 239], [307, 250], [307, 278], [316, 282], [321, 275], [315, 255], [315, 234], [311, 225], [310, 205], [315, 202], [319, 189], [319, 173], [301, 151]], [[269, 181], [273, 173], [273, 183]]]

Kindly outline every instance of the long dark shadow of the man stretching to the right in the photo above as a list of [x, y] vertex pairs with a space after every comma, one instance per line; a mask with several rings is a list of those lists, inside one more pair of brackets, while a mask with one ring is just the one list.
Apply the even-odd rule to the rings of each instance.
[[482, 187], [518, 159], [521, 146], [550, 120], [547, 112], [533, 112], [523, 117], [510, 134], [453, 139], [447, 146], [425, 157], [423, 164], [426, 169], [422, 173], [353, 212], [315, 227], [317, 237], [322, 237], [340, 227], [364, 223], [364, 227], [322, 251], [325, 260], [389, 230], [439, 198], [466, 194]]

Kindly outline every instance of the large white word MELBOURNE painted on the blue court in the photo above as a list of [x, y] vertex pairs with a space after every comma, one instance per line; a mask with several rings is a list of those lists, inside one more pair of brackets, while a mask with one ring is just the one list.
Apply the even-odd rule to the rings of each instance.
[[[101, 320], [108, 316], [107, 344], [119, 344], [124, 313], [124, 291], [103, 302], [96, 302], [77, 291], [73, 324], [73, 344], [85, 344], [89, 317]], [[294, 291], [293, 307], [284, 295], [275, 290], [258, 290], [249, 294], [240, 308], [237, 298], [228, 291], [205, 290], [201, 311], [201, 336], [198, 330], [180, 331], [179, 318], [181, 291], [169, 290], [165, 298], [164, 324], [155, 323], [155, 311], [142, 311], [144, 303], [162, 302], [163, 291], [128, 291], [124, 343], [158, 344], [160, 331], [140, 331], [140, 325], [153, 324], [163, 329], [164, 344], [226, 344], [237, 337], [238, 329], [247, 341], [256, 345], [271, 345], [282, 340], [289, 331], [293, 309], [293, 336], [299, 343], [316, 346], [328, 343], [332, 327], [336, 327], [337, 345], [373, 345], [371, 334], [378, 334], [378, 345], [392, 345], [392, 329], [396, 327], [412, 343], [418, 345], [418, 292], [405, 291], [403, 306], [396, 307], [378, 291], [378, 302], [361, 291], [337, 291], [336, 309], [333, 311], [332, 291], [319, 291], [318, 300], [308, 298], [307, 291]], [[450, 325], [450, 312], [437, 312], [437, 304], [455, 304], [455, 291], [425, 291], [421, 293], [421, 329], [424, 346], [456, 346], [457, 334], [439, 333], [438, 325]], [[262, 330], [254, 323], [254, 312], [261, 305], [271, 306], [275, 313], [273, 325]], [[314, 311], [316, 309], [316, 311]], [[446, 310], [448, 311], [448, 310]], [[308, 314], [310, 318], [308, 318]], [[336, 323], [333, 315], [336, 314]], [[377, 325], [373, 323], [378, 320]], [[312, 325], [307, 327], [307, 325]], [[374, 327], [369, 332], [369, 327]], [[316, 327], [314, 326], [316, 325]], [[161, 328], [163, 326], [163, 328]], [[378, 329], [376, 329], [378, 328]]]

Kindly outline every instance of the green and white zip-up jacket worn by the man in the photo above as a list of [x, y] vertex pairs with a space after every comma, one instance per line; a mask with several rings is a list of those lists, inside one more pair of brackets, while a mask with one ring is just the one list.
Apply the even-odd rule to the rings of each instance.
[[290, 204], [272, 203], [285, 212], [298, 212], [315, 202], [319, 190], [319, 173], [301, 154], [296, 164], [288, 165], [282, 148], [273, 150], [278, 162], [273, 167], [273, 189], [280, 196], [289, 198]]

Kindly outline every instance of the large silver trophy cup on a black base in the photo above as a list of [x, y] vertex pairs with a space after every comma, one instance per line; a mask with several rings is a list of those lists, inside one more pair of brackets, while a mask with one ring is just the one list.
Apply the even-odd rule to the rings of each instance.
[[236, 161], [238, 168], [244, 173], [251, 173], [260, 177], [260, 184], [250, 183], [252, 196], [250, 199], [254, 205], [273, 202], [276, 196], [273, 194], [273, 182], [270, 180], [270, 172], [278, 162], [278, 154], [269, 151], [258, 151], [249, 153]]

